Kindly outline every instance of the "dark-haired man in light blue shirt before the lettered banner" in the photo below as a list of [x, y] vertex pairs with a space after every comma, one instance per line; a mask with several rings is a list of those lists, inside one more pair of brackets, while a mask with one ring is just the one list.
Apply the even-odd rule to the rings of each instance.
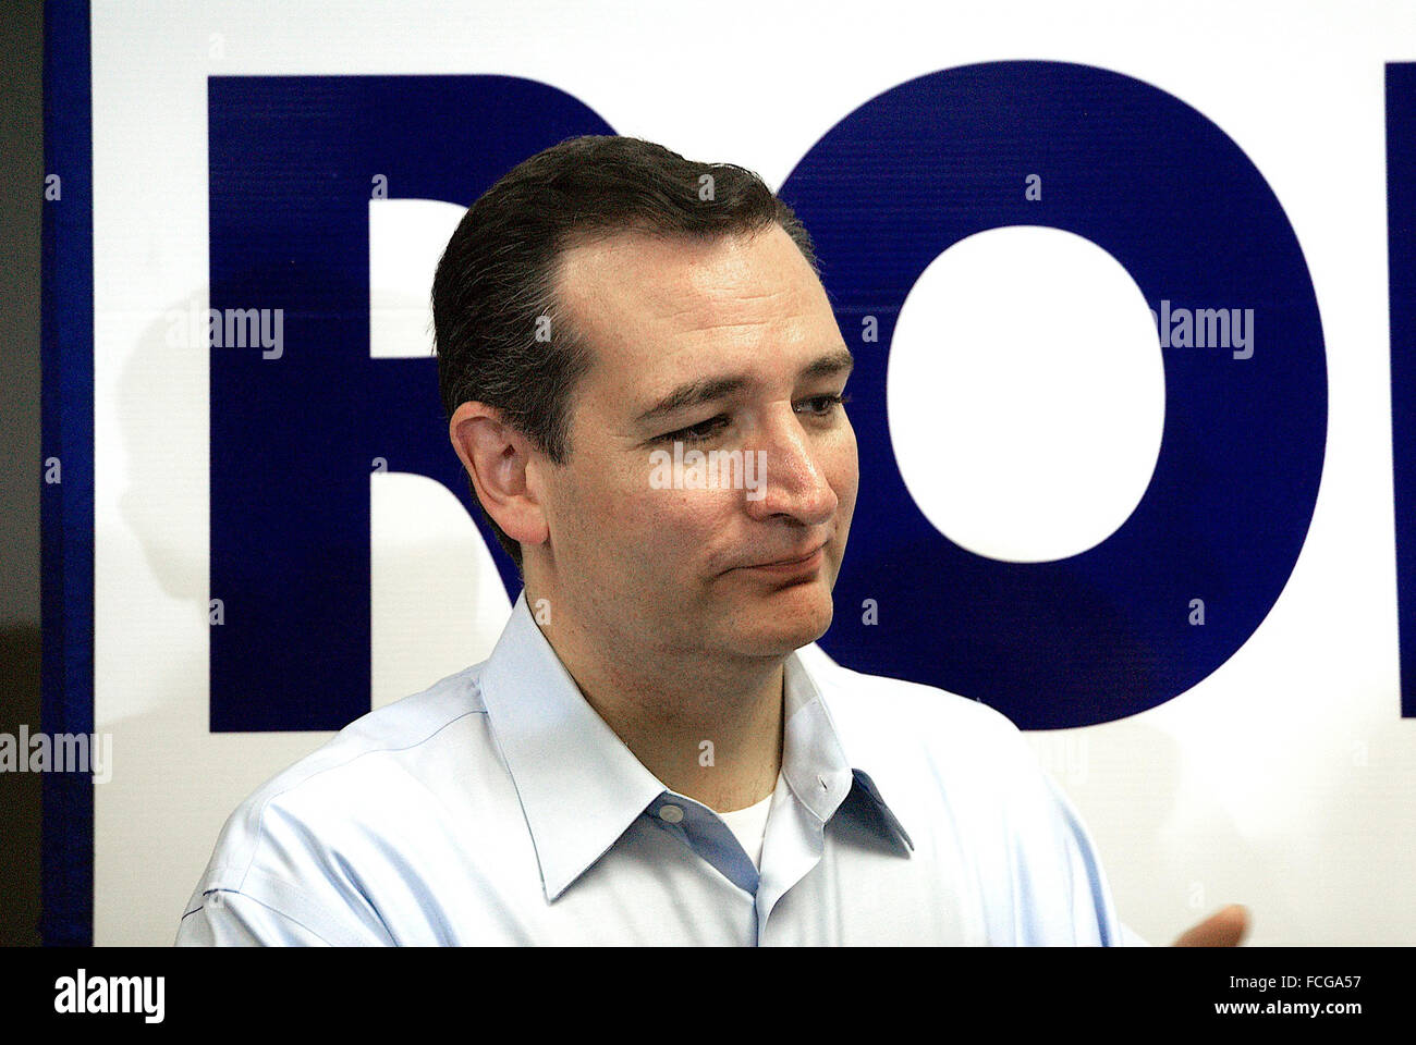
[[755, 176], [564, 142], [472, 207], [433, 314], [524, 589], [487, 661], [236, 810], [178, 943], [1121, 942], [1012, 724], [813, 646], [851, 353]]

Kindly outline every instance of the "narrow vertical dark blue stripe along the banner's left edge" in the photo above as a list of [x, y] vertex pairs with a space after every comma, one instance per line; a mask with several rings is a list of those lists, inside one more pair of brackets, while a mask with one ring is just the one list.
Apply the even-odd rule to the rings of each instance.
[[[59, 198], [44, 204], [41, 404], [44, 469], [61, 481], [40, 498], [42, 683], [50, 733], [93, 731], [93, 142], [89, 7], [44, 11], [44, 170]], [[44, 777], [45, 946], [93, 943], [93, 782]]]

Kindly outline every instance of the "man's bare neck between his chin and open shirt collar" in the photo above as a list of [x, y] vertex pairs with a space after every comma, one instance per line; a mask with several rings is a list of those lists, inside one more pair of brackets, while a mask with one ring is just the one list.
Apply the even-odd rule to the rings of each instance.
[[[527, 602], [535, 605], [530, 592]], [[556, 609], [538, 622], [541, 633], [596, 714], [666, 787], [719, 813], [772, 794], [784, 657], [624, 656], [566, 616]]]

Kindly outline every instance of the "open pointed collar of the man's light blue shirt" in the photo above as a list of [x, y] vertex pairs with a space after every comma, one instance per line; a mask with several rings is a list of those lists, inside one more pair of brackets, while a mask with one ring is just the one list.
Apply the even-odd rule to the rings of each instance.
[[[801, 658], [793, 653], [783, 670], [782, 775], [793, 794], [824, 824], [855, 790], [909, 843], [871, 779], [851, 769], [821, 690]], [[480, 687], [549, 902], [666, 789], [581, 694], [532, 619], [525, 589], [481, 671]]]

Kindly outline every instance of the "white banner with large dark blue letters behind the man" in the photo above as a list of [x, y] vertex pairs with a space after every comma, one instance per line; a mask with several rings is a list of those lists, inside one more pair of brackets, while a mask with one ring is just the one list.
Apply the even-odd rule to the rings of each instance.
[[47, 775], [48, 942], [170, 943], [246, 794], [490, 653], [432, 275], [612, 133], [814, 239], [861, 470], [821, 650], [1028, 731], [1146, 939], [1416, 942], [1409, 4], [47, 17], [42, 732], [103, 753]]

